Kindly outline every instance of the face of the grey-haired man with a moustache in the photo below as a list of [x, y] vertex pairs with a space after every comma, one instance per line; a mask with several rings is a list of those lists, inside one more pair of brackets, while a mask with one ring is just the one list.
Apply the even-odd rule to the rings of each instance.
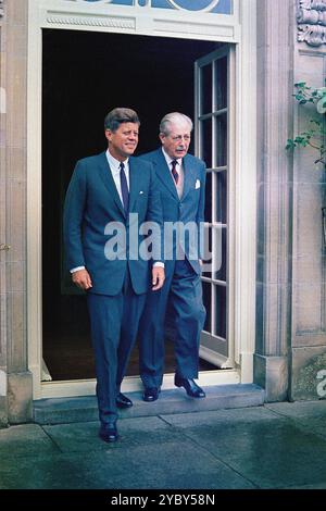
[[171, 158], [184, 158], [191, 140], [190, 126], [188, 123], [171, 123], [168, 135], [161, 133], [160, 139], [165, 152]]

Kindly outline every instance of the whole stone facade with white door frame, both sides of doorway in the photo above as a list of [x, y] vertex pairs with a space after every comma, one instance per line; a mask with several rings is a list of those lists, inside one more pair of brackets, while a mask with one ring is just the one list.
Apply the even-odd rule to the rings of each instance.
[[[0, 424], [33, 421], [33, 401], [40, 397], [35, 389], [41, 377], [34, 361], [40, 361], [41, 349], [35, 320], [41, 315], [36, 284], [41, 272], [41, 232], [35, 230], [39, 214], [35, 208], [40, 209], [40, 202], [34, 198], [41, 187], [35, 179], [41, 125], [33, 133], [32, 127], [38, 115], [34, 91], [41, 79], [41, 74], [34, 73], [33, 59], [40, 51], [34, 38], [45, 26], [128, 34], [139, 29], [141, 35], [154, 26], [153, 30], [167, 36], [171, 32], [189, 39], [192, 30], [193, 40], [205, 35], [210, 41], [239, 45], [230, 95], [240, 87], [244, 96], [237, 96], [234, 115], [246, 120], [251, 112], [253, 119], [249, 130], [241, 130], [237, 122], [234, 129], [233, 158], [235, 165], [240, 164], [231, 190], [237, 205], [229, 220], [238, 223], [233, 279], [237, 298], [228, 314], [234, 325], [233, 369], [240, 385], [253, 382], [263, 387], [266, 401], [323, 398], [325, 174], [314, 169], [312, 151], [289, 153], [285, 145], [304, 129], [311, 115], [292, 100], [293, 84], [324, 85], [326, 1], [235, 0], [239, 18], [234, 25], [225, 13], [216, 11], [213, 17], [218, 2], [206, 1], [196, 14], [202, 28], [186, 12], [185, 1], [170, 2], [167, 21], [142, 15], [150, 2], [137, 0], [130, 8], [124, 3], [128, 2], [0, 0]], [[131, 4], [140, 13], [136, 22]], [[125, 9], [130, 9], [128, 15]], [[46, 13], [43, 27], [38, 25], [39, 12]], [[254, 46], [246, 33], [254, 34]], [[246, 370], [240, 370], [241, 364]], [[210, 381], [214, 383], [213, 377]], [[70, 391], [67, 386], [62, 395]]]

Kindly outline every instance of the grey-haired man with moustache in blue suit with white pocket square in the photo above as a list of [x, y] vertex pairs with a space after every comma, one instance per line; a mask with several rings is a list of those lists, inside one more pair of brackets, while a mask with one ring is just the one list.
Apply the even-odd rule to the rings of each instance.
[[[159, 397], [164, 372], [164, 322], [168, 304], [173, 322], [176, 357], [175, 385], [184, 387], [192, 398], [205, 397], [196, 384], [198, 378], [199, 340], [204, 324], [202, 303], [201, 244], [204, 221], [205, 164], [187, 154], [192, 122], [174, 112], [163, 117], [160, 125], [162, 148], [141, 158], [153, 164], [161, 194], [164, 221], [165, 284], [159, 292], [149, 291], [140, 321], [140, 376], [145, 386], [143, 400]], [[196, 227], [195, 236], [185, 241], [167, 236], [167, 225], [180, 223]]]

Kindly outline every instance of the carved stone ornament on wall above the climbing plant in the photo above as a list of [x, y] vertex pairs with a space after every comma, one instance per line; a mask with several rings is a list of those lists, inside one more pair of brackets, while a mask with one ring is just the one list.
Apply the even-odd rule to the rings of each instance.
[[318, 47], [326, 43], [326, 0], [298, 1], [298, 41]]

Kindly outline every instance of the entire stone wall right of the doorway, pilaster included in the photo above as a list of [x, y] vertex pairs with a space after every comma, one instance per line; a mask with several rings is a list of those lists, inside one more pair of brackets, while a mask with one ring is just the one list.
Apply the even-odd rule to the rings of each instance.
[[[325, 2], [258, 2], [258, 279], [254, 379], [267, 401], [321, 399], [326, 374], [325, 171], [285, 151], [313, 107], [297, 82], [325, 85]], [[298, 25], [297, 25], [298, 20]], [[319, 22], [318, 22], [319, 20]], [[311, 25], [309, 25], [311, 23]], [[302, 36], [304, 34], [304, 37]], [[325, 378], [325, 376], [324, 376]]]

